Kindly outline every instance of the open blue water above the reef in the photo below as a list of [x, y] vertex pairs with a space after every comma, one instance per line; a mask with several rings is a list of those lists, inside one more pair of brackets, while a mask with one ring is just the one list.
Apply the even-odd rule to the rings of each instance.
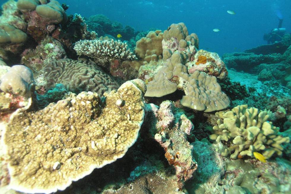
[[[283, 17], [283, 27], [291, 32], [291, 0], [195, 0], [195, 1], [96, 1], [62, 0], [69, 14], [83, 17], [104, 14], [113, 21], [135, 30], [165, 30], [172, 23], [184, 22], [195, 32], [200, 48], [223, 53], [243, 51], [265, 44], [263, 34], [276, 28]], [[230, 15], [227, 10], [235, 11]], [[218, 28], [219, 32], [212, 29]]]

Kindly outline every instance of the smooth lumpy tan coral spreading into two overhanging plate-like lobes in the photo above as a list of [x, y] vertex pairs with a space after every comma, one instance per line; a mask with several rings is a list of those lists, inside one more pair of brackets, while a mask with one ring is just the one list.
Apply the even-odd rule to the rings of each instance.
[[145, 96], [162, 97], [181, 89], [185, 92], [181, 104], [188, 108], [211, 112], [229, 106], [230, 100], [221, 91], [216, 77], [199, 71], [189, 75], [181, 61], [182, 55], [175, 52], [167, 65], [159, 69], [154, 80], [148, 83]]

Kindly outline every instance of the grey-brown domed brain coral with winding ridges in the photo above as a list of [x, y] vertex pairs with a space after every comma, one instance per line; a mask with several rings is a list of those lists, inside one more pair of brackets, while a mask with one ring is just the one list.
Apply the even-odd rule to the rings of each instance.
[[62, 83], [71, 92], [91, 91], [103, 95], [119, 87], [113, 77], [86, 59], [53, 61], [46, 64], [42, 71], [48, 88]]

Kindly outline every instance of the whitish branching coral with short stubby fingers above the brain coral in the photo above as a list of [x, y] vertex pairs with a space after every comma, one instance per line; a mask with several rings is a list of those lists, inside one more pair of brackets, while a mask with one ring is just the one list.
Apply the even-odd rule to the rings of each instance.
[[74, 46], [78, 55], [91, 57], [94, 62], [106, 66], [114, 59], [132, 60], [135, 55], [120, 40], [80, 40]]

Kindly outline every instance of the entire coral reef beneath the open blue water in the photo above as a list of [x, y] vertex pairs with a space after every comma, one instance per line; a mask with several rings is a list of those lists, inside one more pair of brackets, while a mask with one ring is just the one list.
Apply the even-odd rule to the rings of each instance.
[[222, 60], [67, 9], [2, 5], [0, 193], [290, 193], [291, 36]]

